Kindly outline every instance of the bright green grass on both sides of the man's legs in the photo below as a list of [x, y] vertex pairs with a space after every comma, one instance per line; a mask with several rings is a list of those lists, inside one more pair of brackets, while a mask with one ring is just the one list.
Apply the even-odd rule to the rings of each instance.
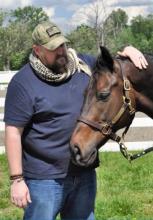
[[[153, 153], [131, 164], [120, 153], [100, 153], [96, 220], [153, 220]], [[0, 220], [22, 219], [9, 200], [8, 168], [0, 155]]]

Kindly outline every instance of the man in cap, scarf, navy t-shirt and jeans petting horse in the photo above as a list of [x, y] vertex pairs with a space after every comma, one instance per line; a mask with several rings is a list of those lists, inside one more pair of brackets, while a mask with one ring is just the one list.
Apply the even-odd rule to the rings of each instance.
[[[6, 152], [11, 200], [23, 207], [24, 220], [93, 220], [95, 168], [70, 163], [69, 139], [83, 103], [95, 58], [67, 49], [56, 24], [33, 31], [33, 52], [11, 80], [6, 95]], [[141, 52], [126, 47], [139, 68]]]

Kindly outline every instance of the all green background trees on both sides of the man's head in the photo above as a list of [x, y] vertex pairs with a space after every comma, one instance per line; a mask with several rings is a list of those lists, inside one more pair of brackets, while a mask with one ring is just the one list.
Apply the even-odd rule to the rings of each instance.
[[[107, 46], [113, 54], [131, 44], [142, 52], [153, 54], [152, 14], [137, 16], [130, 25], [127, 25], [126, 12], [121, 9], [112, 11], [103, 24], [98, 25], [98, 16], [92, 16], [96, 20], [91, 26], [82, 24], [67, 35], [70, 47], [80, 53], [97, 55], [99, 44]], [[33, 6], [12, 11], [0, 9], [0, 70], [17, 70], [27, 62], [33, 28], [48, 19], [42, 8]], [[97, 25], [93, 27], [92, 24]]]

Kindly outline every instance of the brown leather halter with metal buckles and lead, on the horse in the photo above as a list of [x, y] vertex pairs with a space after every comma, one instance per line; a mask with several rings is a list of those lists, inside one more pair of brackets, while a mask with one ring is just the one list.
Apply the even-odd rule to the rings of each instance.
[[[116, 116], [112, 119], [111, 122], [105, 122], [105, 121], [93, 122], [83, 116], [80, 116], [78, 118], [78, 121], [92, 127], [93, 129], [100, 131], [104, 136], [107, 136], [108, 138], [116, 141], [120, 146], [120, 151], [123, 154], [123, 156], [127, 160], [132, 161], [138, 157], [143, 156], [144, 154], [150, 152], [153, 149], [149, 148], [149, 149], [144, 150], [141, 153], [132, 155], [132, 154], [128, 153], [127, 148], [124, 144], [124, 136], [125, 136], [126, 132], [128, 131], [128, 129], [132, 123], [132, 120], [135, 116], [136, 103], [135, 103], [134, 94], [131, 91], [131, 88], [132, 88], [131, 83], [124, 75], [122, 63], [120, 62], [119, 59], [117, 60], [117, 62], [120, 66], [121, 75], [123, 78], [123, 104], [122, 104], [119, 112], [116, 114]], [[113, 126], [115, 124], [117, 124], [117, 122], [119, 121], [119, 119], [121, 119], [121, 117], [123, 116], [123, 114], [125, 112], [129, 113], [129, 117], [131, 118], [131, 123], [125, 128], [124, 132], [122, 133], [122, 136], [120, 137], [113, 131]]]

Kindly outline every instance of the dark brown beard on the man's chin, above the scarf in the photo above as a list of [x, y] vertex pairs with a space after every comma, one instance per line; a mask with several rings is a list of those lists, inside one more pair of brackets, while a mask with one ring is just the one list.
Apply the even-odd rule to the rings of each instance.
[[68, 56], [58, 56], [54, 64], [50, 65], [49, 68], [56, 74], [64, 73], [67, 71]]

